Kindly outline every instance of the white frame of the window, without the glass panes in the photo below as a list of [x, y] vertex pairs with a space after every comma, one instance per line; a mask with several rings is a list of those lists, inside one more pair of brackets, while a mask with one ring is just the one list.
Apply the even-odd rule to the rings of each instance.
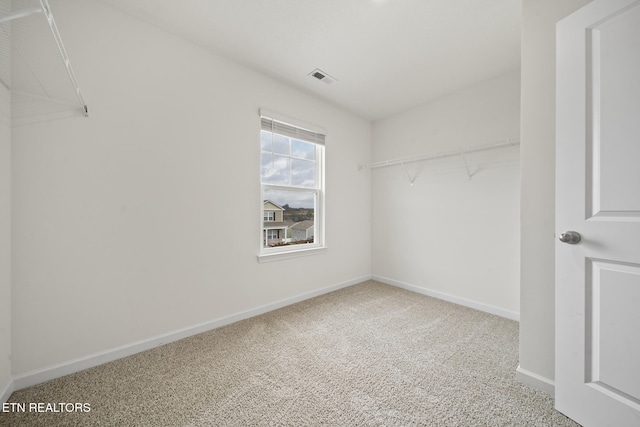
[[[325, 243], [325, 144], [324, 137], [326, 136], [326, 131], [318, 127], [316, 125], [311, 125], [308, 123], [304, 123], [298, 119], [294, 119], [280, 113], [274, 113], [269, 110], [261, 109], [260, 110], [260, 118], [263, 119], [271, 119], [275, 122], [284, 123], [289, 126], [293, 126], [298, 128], [302, 133], [305, 134], [318, 134], [322, 136], [322, 141], [316, 142], [313, 140], [309, 140], [309, 137], [300, 137], [298, 139], [314, 143], [316, 146], [316, 176], [315, 188], [309, 187], [297, 187], [292, 185], [276, 185], [276, 184], [264, 184], [262, 183], [262, 171], [260, 171], [260, 250], [258, 253], [258, 262], [270, 262], [281, 259], [289, 259], [295, 258], [299, 256], [312, 255], [317, 253], [324, 253], [327, 250]], [[261, 125], [260, 131], [263, 130]], [[275, 132], [278, 133], [278, 132]], [[260, 140], [260, 138], [258, 138]], [[265, 217], [265, 209], [264, 209], [264, 200], [265, 190], [285, 190], [285, 191], [300, 191], [304, 193], [313, 193], [315, 198], [315, 208], [314, 208], [314, 241], [313, 243], [305, 243], [299, 245], [286, 245], [286, 246], [277, 246], [277, 247], [264, 247], [263, 245], [263, 230], [264, 230], [264, 217]]]

